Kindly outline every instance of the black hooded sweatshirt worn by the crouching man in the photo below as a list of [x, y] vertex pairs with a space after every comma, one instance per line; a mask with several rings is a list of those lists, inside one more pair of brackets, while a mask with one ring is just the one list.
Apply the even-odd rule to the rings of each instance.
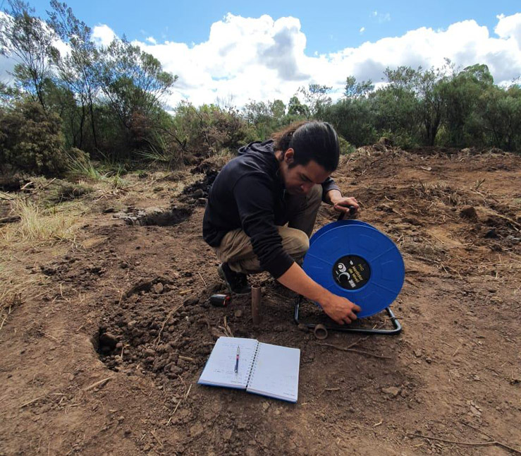
[[[288, 222], [285, 188], [278, 168], [273, 140], [240, 148], [239, 156], [217, 175], [202, 222], [202, 236], [212, 247], [218, 247], [227, 232], [242, 228], [250, 236], [261, 268], [275, 278], [293, 264], [276, 228]], [[328, 178], [322, 188], [325, 197], [338, 186]]]

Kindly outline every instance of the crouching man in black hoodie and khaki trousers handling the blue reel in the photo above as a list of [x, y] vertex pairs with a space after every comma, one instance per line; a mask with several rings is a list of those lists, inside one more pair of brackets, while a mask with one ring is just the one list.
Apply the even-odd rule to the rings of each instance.
[[219, 172], [204, 212], [203, 237], [222, 262], [219, 275], [230, 292], [250, 292], [247, 275], [268, 271], [317, 301], [336, 323], [357, 318], [359, 306], [321, 287], [300, 267], [321, 201], [338, 212], [358, 209], [355, 198], [344, 198], [330, 177], [339, 154], [333, 127], [307, 121], [243, 146]]

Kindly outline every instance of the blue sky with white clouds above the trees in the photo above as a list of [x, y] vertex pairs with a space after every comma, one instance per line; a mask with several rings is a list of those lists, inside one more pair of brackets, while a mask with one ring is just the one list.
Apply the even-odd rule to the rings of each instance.
[[[4, 0], [3, 6], [7, 2]], [[496, 83], [521, 76], [521, 2], [70, 0], [98, 44], [125, 35], [178, 76], [165, 100], [281, 99], [319, 83], [384, 78], [386, 67], [487, 64]], [[48, 1], [30, 1], [46, 18]], [[4, 69], [6, 64], [1, 65]], [[0, 68], [1, 70], [1, 68]]]

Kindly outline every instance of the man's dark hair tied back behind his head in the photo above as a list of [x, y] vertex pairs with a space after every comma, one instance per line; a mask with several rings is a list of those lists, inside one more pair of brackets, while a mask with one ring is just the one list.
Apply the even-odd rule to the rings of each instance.
[[306, 165], [314, 160], [327, 172], [333, 172], [338, 167], [340, 145], [335, 129], [327, 122], [301, 121], [291, 124], [285, 130], [274, 133], [274, 150], [295, 150], [294, 162], [290, 167], [298, 164]]

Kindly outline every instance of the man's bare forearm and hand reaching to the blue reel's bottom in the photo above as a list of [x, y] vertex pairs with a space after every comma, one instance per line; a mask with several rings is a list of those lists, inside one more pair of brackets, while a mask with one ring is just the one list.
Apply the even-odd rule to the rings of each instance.
[[361, 310], [359, 306], [348, 299], [336, 296], [336, 294], [314, 282], [297, 263], [293, 263], [277, 280], [293, 292], [302, 294], [312, 301], [317, 301], [324, 312], [339, 325], [356, 320], [355, 312]]

